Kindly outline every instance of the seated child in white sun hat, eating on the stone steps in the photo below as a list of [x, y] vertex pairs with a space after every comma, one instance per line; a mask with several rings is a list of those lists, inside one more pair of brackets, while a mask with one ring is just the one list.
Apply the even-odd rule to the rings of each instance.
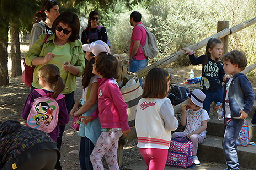
[[[197, 157], [198, 144], [203, 143], [206, 138], [207, 122], [209, 115], [203, 107], [206, 95], [199, 89], [188, 92], [188, 102], [182, 106], [181, 125], [186, 126], [184, 132], [175, 132], [172, 138], [185, 137], [193, 143], [194, 164], [200, 165]], [[187, 109], [187, 110], [186, 110]]]

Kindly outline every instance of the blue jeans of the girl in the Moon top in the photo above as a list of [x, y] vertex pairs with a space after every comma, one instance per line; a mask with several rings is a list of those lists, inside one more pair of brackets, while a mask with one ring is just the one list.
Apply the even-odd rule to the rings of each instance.
[[215, 103], [222, 103], [223, 89], [217, 91], [203, 91], [206, 98], [203, 101], [203, 109], [205, 109], [208, 114], [210, 113], [210, 105], [214, 101]]

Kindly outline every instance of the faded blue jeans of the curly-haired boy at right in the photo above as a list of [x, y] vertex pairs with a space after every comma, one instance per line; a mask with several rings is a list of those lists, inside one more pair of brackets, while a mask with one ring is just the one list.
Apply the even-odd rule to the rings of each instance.
[[228, 169], [239, 170], [236, 139], [243, 124], [244, 119], [225, 118], [222, 147]]

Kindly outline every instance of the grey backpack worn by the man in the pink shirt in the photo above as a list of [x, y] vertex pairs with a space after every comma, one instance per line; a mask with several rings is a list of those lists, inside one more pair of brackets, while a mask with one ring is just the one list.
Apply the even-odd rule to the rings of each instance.
[[148, 28], [146, 28], [144, 25], [138, 24], [137, 26], [142, 26], [147, 32], [145, 45], [142, 46], [140, 44], [140, 48], [142, 49], [145, 57], [149, 57], [150, 59], [154, 59], [158, 55], [158, 49], [157, 49], [157, 46], [156, 46], [155, 35], [153, 33], [151, 33], [148, 30]]

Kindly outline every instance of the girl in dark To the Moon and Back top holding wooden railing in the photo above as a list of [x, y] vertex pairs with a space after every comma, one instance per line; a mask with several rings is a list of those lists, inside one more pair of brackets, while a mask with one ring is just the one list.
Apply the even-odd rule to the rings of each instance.
[[210, 111], [210, 104], [222, 103], [223, 86], [222, 82], [225, 82], [225, 72], [223, 70], [223, 63], [220, 60], [222, 55], [222, 41], [217, 38], [211, 38], [206, 45], [206, 53], [196, 58], [191, 49], [185, 47], [185, 50], [189, 54], [191, 64], [198, 65], [203, 64], [202, 79], [200, 88], [206, 94], [206, 99], [203, 102], [203, 109], [208, 113]]

